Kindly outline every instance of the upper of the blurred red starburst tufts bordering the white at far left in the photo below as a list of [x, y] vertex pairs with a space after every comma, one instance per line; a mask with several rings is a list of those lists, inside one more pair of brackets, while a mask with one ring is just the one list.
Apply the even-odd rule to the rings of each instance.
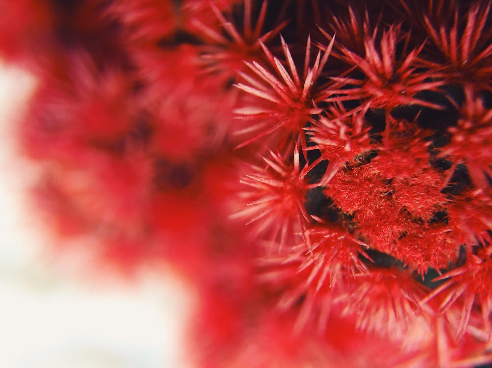
[[[84, 52], [60, 59], [44, 70], [21, 127], [26, 149], [33, 157], [77, 169], [97, 167], [94, 157], [121, 154], [133, 129], [133, 80], [121, 69], [100, 70]], [[70, 65], [68, 70], [62, 62]]]

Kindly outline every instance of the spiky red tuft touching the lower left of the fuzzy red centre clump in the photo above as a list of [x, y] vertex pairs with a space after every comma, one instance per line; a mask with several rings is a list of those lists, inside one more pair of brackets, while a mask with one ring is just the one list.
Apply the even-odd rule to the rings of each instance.
[[368, 272], [360, 259], [372, 261], [367, 248], [344, 228], [320, 224], [307, 228], [300, 244], [260, 259], [262, 282], [282, 290], [279, 310], [301, 304], [294, 333], [313, 323], [319, 332], [327, 330], [334, 298], [351, 288], [356, 275]]

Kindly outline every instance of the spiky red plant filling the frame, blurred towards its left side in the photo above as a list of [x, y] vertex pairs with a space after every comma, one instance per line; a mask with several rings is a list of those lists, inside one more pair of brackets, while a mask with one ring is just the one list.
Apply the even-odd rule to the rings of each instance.
[[489, 367], [491, 7], [0, 0], [47, 251], [172, 267], [195, 367]]

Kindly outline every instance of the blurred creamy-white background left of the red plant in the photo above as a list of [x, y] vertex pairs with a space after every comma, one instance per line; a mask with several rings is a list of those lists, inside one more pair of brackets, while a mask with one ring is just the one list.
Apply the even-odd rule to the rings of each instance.
[[13, 137], [36, 80], [0, 63], [0, 367], [188, 368], [189, 290], [172, 272], [131, 282], [83, 278], [51, 259], [28, 191], [35, 167]]

